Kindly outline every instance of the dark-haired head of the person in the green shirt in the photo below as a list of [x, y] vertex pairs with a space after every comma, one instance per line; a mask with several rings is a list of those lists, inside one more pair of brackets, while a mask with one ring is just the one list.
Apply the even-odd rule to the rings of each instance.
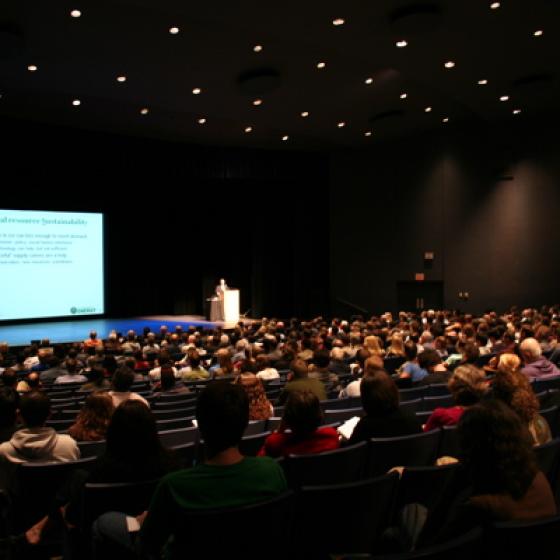
[[211, 383], [198, 397], [196, 419], [208, 458], [237, 447], [249, 423], [247, 394], [239, 385]]

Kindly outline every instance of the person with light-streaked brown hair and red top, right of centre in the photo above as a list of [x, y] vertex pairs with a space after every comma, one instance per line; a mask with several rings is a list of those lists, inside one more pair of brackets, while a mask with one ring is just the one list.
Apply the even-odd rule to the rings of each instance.
[[465, 364], [455, 369], [447, 386], [455, 405], [436, 408], [424, 426], [425, 432], [457, 424], [465, 409], [482, 398], [488, 389], [488, 381], [482, 370]]

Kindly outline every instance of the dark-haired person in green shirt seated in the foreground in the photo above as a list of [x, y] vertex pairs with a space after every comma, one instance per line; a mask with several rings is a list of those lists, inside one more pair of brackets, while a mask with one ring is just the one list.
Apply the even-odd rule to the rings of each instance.
[[244, 457], [239, 442], [249, 422], [245, 391], [227, 382], [210, 384], [199, 396], [196, 418], [205, 442], [206, 460], [192, 469], [170, 473], [158, 484], [147, 512], [137, 520], [140, 531], [130, 533], [126, 516], [101, 516], [94, 534], [103, 550], [114, 543], [142, 555], [182, 556], [182, 545], [196, 535], [188, 527], [176, 530], [183, 511], [232, 508], [264, 502], [287, 491], [282, 468], [266, 457]]

